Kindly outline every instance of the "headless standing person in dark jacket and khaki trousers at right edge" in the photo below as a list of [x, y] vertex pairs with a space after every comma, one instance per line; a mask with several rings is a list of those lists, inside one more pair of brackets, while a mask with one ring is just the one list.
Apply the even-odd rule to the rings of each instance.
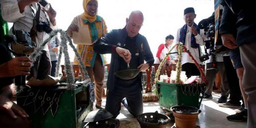
[[[220, 34], [224, 46], [239, 47], [244, 67], [242, 85], [248, 94], [247, 127], [256, 127], [256, 1], [222, 1], [223, 14]], [[236, 39], [235, 39], [236, 38]]]

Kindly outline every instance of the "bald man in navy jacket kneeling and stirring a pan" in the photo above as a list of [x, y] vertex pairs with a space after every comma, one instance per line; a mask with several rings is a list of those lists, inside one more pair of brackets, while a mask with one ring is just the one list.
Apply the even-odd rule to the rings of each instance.
[[145, 71], [154, 63], [146, 38], [139, 34], [143, 20], [141, 11], [133, 11], [129, 19], [126, 18], [125, 28], [112, 30], [94, 45], [94, 51], [97, 53], [112, 53], [105, 109], [112, 113], [114, 118], [120, 113], [120, 102], [133, 116], [143, 113], [142, 72], [129, 80], [123, 80], [114, 75], [117, 71], [126, 70], [127, 63], [131, 69], [141, 71]]

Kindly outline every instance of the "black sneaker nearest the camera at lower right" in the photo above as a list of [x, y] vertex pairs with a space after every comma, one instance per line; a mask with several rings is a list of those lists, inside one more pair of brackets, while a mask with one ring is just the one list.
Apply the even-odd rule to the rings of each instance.
[[240, 113], [227, 116], [227, 119], [230, 121], [242, 122], [247, 121], [247, 110], [243, 110]]

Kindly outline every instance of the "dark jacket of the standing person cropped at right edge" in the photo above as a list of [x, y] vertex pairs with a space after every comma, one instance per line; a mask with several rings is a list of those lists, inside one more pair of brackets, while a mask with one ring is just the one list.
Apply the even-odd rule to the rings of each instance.
[[223, 5], [220, 34], [234, 34], [238, 46], [255, 42], [256, 1], [221, 0], [220, 4]]

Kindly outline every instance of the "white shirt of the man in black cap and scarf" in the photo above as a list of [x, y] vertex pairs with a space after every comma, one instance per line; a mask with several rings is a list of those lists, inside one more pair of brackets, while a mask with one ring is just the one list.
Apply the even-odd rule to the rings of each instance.
[[[186, 46], [187, 50], [189, 50], [191, 52], [191, 55], [193, 55], [193, 57], [196, 59], [196, 61], [199, 64], [202, 64], [202, 62], [199, 59], [199, 50], [198, 50], [198, 48], [192, 48], [191, 47], [192, 31], [190, 30], [190, 28], [191, 27], [187, 25], [187, 34], [186, 34], [186, 39], [185, 39], [185, 46]], [[174, 45], [179, 43], [180, 30], [181, 30], [181, 28], [179, 28], [177, 30], [177, 35], [176, 35], [176, 38], [175, 38]], [[200, 46], [203, 46], [204, 45], [204, 40], [207, 39], [207, 37], [205, 36], [204, 33], [205, 33], [205, 31], [203, 29], [200, 29], [200, 34], [197, 34], [197, 36], [195, 36], [196, 43], [199, 44]], [[201, 52], [201, 47], [199, 47], [199, 48], [200, 48], [200, 52]], [[174, 48], [173, 52], [177, 52], [177, 49]], [[202, 55], [202, 53], [201, 53], [201, 55]], [[173, 56], [175, 57], [175, 59], [177, 59], [177, 54], [174, 54]], [[188, 53], [183, 52], [182, 53], [181, 65], [183, 65], [185, 63], [194, 63], [194, 61], [189, 57]]]

